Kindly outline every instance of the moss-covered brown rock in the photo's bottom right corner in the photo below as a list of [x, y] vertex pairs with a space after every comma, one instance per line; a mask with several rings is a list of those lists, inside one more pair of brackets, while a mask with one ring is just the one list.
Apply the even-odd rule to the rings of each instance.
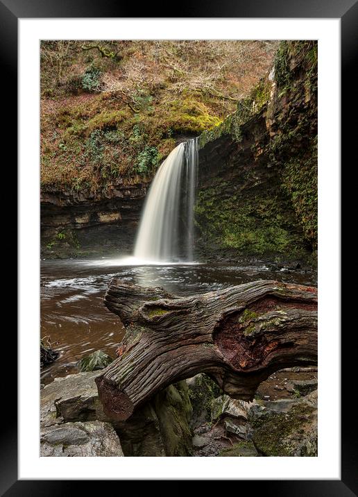
[[250, 436], [265, 456], [317, 455], [317, 396], [253, 405]]

